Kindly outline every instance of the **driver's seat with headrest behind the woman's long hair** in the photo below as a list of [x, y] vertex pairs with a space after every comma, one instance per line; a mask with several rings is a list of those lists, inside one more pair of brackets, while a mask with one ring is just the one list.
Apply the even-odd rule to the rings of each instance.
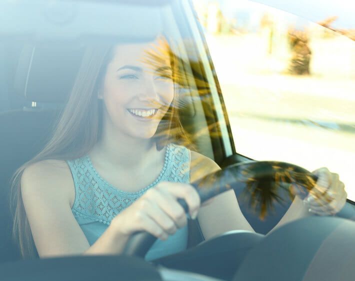
[[8, 81], [12, 89], [10, 94], [23, 97], [23, 104], [21, 109], [0, 113], [0, 262], [19, 258], [18, 248], [10, 235], [11, 176], [48, 140], [79, 62], [76, 49], [58, 51], [58, 47], [53, 46], [24, 45], [14, 77]]

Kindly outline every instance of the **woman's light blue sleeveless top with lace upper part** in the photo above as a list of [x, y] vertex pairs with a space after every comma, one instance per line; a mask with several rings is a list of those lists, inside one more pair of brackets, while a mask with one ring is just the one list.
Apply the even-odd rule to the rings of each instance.
[[[68, 160], [67, 163], [75, 185], [75, 200], [71, 210], [90, 245], [106, 230], [113, 217], [159, 181], [190, 181], [190, 151], [172, 143], [166, 146], [164, 165], [159, 176], [137, 192], [122, 191], [110, 185], [97, 173], [88, 155]], [[187, 225], [165, 241], [157, 239], [145, 259], [173, 254], [186, 247]]]

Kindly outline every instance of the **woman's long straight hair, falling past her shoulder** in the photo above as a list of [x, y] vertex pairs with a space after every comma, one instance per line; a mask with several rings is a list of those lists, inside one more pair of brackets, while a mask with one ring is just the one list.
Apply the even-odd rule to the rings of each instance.
[[[29, 165], [46, 159], [69, 160], [81, 157], [92, 149], [97, 142], [102, 124], [102, 103], [97, 98], [106, 72], [106, 66], [113, 57], [112, 46], [86, 47], [70, 97], [57, 120], [55, 130], [44, 148], [30, 161], [20, 166], [12, 176], [10, 202], [13, 214], [12, 234], [18, 241], [22, 257], [36, 257], [37, 252], [26, 217], [21, 197], [20, 180], [22, 173]], [[178, 59], [168, 48], [173, 69], [174, 85], [181, 74], [177, 65]], [[156, 59], [157, 53], [148, 53]], [[182, 128], [179, 119], [178, 94], [175, 87], [173, 101], [165, 116], [160, 121], [153, 136], [158, 149], [167, 142], [177, 141], [183, 145], [190, 144], [189, 137]]]

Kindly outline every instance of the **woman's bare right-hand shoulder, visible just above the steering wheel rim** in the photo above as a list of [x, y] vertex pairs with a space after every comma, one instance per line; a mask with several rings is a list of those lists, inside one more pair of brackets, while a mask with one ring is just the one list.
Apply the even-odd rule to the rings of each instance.
[[204, 175], [219, 170], [220, 167], [212, 159], [191, 150], [190, 181], [193, 182]]

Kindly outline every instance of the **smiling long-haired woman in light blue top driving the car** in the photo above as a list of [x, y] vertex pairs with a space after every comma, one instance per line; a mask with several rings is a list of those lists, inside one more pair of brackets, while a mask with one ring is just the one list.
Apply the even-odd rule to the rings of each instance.
[[[149, 64], [156, 54], [157, 67]], [[166, 239], [178, 227], [182, 228], [172, 237], [177, 242], [169, 242], [171, 250], [186, 247], [186, 217], [181, 216], [181, 206], [168, 202], [184, 197], [193, 215], [198, 196], [190, 186], [162, 183], [189, 182], [189, 141], [178, 118], [176, 71], [168, 44], [161, 38], [86, 49], [53, 137], [14, 177], [14, 230], [22, 255], [35, 252], [32, 236], [40, 256], [86, 250], [117, 253], [132, 231], [144, 229]], [[173, 140], [184, 146], [169, 144]], [[153, 186], [161, 194], [145, 192], [125, 216], [118, 215]], [[181, 193], [185, 189], [189, 191]], [[113, 198], [108, 195], [112, 191]], [[103, 199], [102, 193], [109, 197]], [[147, 207], [150, 200], [153, 203]], [[102, 207], [109, 215], [102, 213]], [[123, 223], [124, 217], [130, 222]], [[106, 224], [117, 220], [105, 231]], [[116, 224], [122, 225], [119, 234]], [[112, 235], [120, 237], [118, 243]], [[71, 242], [63, 240], [66, 236]], [[155, 255], [162, 254], [160, 247], [165, 247], [164, 254], [171, 253], [158, 243]]]

